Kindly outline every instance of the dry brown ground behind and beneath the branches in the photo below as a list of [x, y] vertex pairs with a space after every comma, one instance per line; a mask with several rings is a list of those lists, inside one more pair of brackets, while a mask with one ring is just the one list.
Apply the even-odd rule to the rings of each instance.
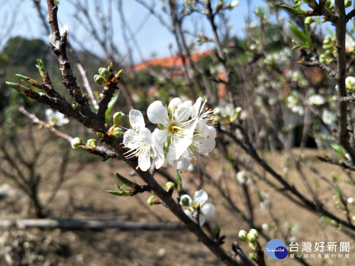
[[[297, 152], [297, 150], [294, 150]], [[100, 162], [91, 160], [85, 167], [80, 160], [87, 160], [87, 155], [75, 159], [78, 153], [84, 151], [73, 151], [71, 155], [71, 164], [67, 170], [67, 177], [62, 184], [61, 189], [56, 195], [55, 200], [49, 206], [50, 216], [55, 218], [76, 218], [85, 216], [99, 217], [118, 217], [120, 220], [139, 221], [139, 222], [178, 222], [178, 219], [170, 214], [170, 212], [162, 205], [148, 206], [146, 200], [150, 196], [143, 193], [133, 197], [119, 197], [111, 195], [106, 190], [115, 189], [114, 184], [118, 183], [114, 173], [119, 172], [122, 176], [129, 177], [131, 169], [124, 162], [111, 160], [108, 162]], [[322, 154], [322, 151], [307, 150], [306, 157], [312, 158], [315, 154]], [[214, 155], [218, 158], [218, 154]], [[283, 172], [284, 156], [282, 153], [267, 153], [265, 159], [279, 173]], [[209, 161], [212, 161], [209, 159]], [[316, 159], [309, 159], [320, 172], [328, 179], [331, 179], [332, 173], [338, 173], [342, 178], [339, 187], [344, 190], [348, 196], [355, 196], [353, 186], [345, 183], [345, 174], [335, 166], [321, 163]], [[43, 164], [50, 171], [53, 167], [51, 162]], [[215, 177], [220, 172], [221, 163], [216, 159], [207, 166], [208, 171]], [[226, 166], [226, 174], [232, 173]], [[81, 167], [81, 171], [75, 171]], [[254, 169], [260, 173], [260, 169], [254, 166]], [[308, 169], [302, 168], [307, 176], [308, 181], [312, 184], [313, 178], [316, 178]], [[170, 171], [174, 176], [174, 172]], [[0, 185], [9, 183], [7, 179], [0, 177]], [[163, 186], [166, 183], [159, 174], [156, 178]], [[223, 247], [231, 251], [231, 243], [237, 240], [237, 234], [240, 229], [249, 230], [240, 218], [236, 218], [225, 207], [223, 197], [219, 192], [206, 181], [193, 177], [189, 172], [182, 174], [184, 187], [189, 190], [189, 194], [193, 196], [197, 188], [203, 187], [210, 195], [209, 200], [215, 205], [215, 213], [209, 218], [211, 226], [218, 224], [221, 233], [226, 234], [225, 244]], [[269, 177], [272, 180], [271, 177]], [[131, 178], [133, 181], [140, 183], [137, 176]], [[290, 168], [288, 180], [294, 184], [301, 192], [306, 192], [300, 177], [296, 174], [293, 167]], [[232, 198], [237, 206], [243, 208], [243, 200], [240, 187], [234, 181], [228, 181], [228, 186]], [[47, 180], [41, 187], [41, 197], [45, 201], [48, 196], [47, 190], [51, 187], [51, 181]], [[345, 259], [345, 252], [342, 252], [342, 259], [327, 259], [322, 265], [355, 265], [355, 242], [354, 239], [346, 235], [343, 231], [328, 225], [323, 232], [320, 217], [301, 207], [291, 203], [285, 199], [283, 195], [268, 187], [265, 183], [258, 181], [250, 186], [253, 192], [256, 188], [264, 190], [270, 194], [272, 200], [271, 212], [277, 217], [279, 225], [290, 221], [297, 223], [300, 232], [296, 235], [297, 243], [302, 249], [302, 242], [350, 242], [350, 259]], [[339, 217], [342, 211], [335, 208], [332, 195], [334, 190], [329, 186], [320, 183], [317, 188], [317, 194], [323, 200], [325, 206], [334, 210]], [[173, 195], [175, 197], [175, 193]], [[308, 198], [310, 198], [308, 196]], [[260, 210], [260, 203], [256, 196], [252, 196], [252, 203], [255, 207], [256, 224], [271, 223], [272, 220], [268, 212]], [[0, 200], [1, 219], [29, 217], [28, 214], [28, 198], [18, 190], [13, 196], [6, 200]], [[355, 215], [355, 213], [353, 214]], [[324, 233], [324, 235], [323, 235]], [[324, 238], [325, 237], [325, 238]], [[277, 237], [279, 238], [279, 237]], [[23, 244], [28, 243], [28, 244]], [[260, 238], [260, 244], [265, 248], [267, 241]], [[119, 229], [106, 229], [102, 231], [68, 231], [61, 229], [45, 229], [29, 228], [18, 230], [16, 228], [1, 229], [0, 231], [0, 248], [4, 251], [12, 249], [17, 250], [18, 257], [13, 257], [13, 265], [222, 265], [218, 259], [201, 243], [196, 237], [183, 231], [120, 231]], [[245, 253], [249, 253], [250, 249], [245, 243], [241, 244]], [[338, 250], [338, 249], [337, 249]], [[1, 256], [2, 254], [2, 256]], [[0, 265], [7, 265], [4, 252], [0, 251]], [[310, 253], [311, 254], [311, 253]], [[309, 256], [310, 256], [309, 254]], [[338, 254], [338, 252], [336, 252]], [[316, 253], [317, 255], [317, 253]], [[329, 256], [330, 253], [329, 253]], [[284, 260], [273, 260], [265, 255], [266, 265], [301, 265], [295, 259], [286, 257]], [[22, 262], [21, 262], [22, 261]], [[31, 263], [32, 261], [32, 263]], [[319, 259], [306, 259], [309, 265], [319, 265]]]

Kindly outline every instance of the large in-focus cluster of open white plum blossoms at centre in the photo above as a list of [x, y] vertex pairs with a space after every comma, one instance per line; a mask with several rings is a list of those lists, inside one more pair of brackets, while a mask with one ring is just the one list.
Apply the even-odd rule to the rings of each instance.
[[126, 156], [138, 156], [138, 167], [143, 171], [149, 169], [151, 157], [156, 168], [171, 165], [186, 170], [191, 162], [203, 162], [202, 155], [214, 149], [216, 137], [211, 126], [215, 112], [204, 109], [206, 101], [200, 97], [192, 105], [174, 98], [168, 107], [154, 101], [147, 110], [149, 121], [157, 124], [153, 133], [146, 128], [142, 113], [132, 109], [131, 129], [123, 137], [123, 144], [130, 149]]

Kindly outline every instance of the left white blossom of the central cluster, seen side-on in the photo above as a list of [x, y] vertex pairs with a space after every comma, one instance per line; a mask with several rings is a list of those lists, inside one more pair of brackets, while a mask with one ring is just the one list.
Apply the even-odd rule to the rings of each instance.
[[160, 168], [164, 163], [164, 149], [162, 139], [165, 137], [159, 129], [153, 133], [146, 128], [141, 111], [132, 109], [129, 113], [129, 121], [132, 129], [128, 129], [123, 135], [123, 144], [129, 148], [125, 154], [127, 158], [138, 156], [138, 167], [147, 171], [151, 166], [150, 158], [155, 162], [155, 168]]

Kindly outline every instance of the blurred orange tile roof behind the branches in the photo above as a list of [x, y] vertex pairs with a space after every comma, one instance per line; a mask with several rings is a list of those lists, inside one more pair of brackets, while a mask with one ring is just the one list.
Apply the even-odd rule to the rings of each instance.
[[[198, 61], [200, 59], [200, 57], [205, 57], [207, 55], [210, 55], [212, 53], [211, 50], [209, 51], [205, 51], [205, 52], [202, 52], [202, 53], [199, 53], [199, 52], [195, 52], [193, 54], [191, 54], [191, 57], [192, 57], [192, 60], [194, 62]], [[187, 58], [185, 56], [185, 62], [187, 65], [189, 65], [189, 58]], [[143, 70], [143, 69], [146, 69], [148, 67], [148, 65], [151, 65], [151, 66], [163, 66], [163, 67], [181, 67], [183, 65], [182, 63], [182, 59], [180, 56], [170, 56], [170, 57], [163, 57], [163, 58], [155, 58], [155, 59], [151, 59], [151, 60], [148, 60], [146, 62], [142, 62], [142, 63], [139, 63], [137, 65], [135, 65], [133, 67], [133, 70], [134, 71], [140, 71], [140, 70]]]

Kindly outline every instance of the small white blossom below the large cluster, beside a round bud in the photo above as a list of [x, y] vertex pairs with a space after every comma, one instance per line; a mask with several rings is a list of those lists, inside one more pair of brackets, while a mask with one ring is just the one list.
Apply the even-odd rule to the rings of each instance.
[[198, 220], [200, 221], [200, 225], [203, 225], [204, 222], [206, 221], [205, 216], [211, 216], [214, 212], [213, 204], [205, 203], [207, 200], [208, 200], [207, 192], [204, 191], [203, 189], [200, 189], [195, 192], [193, 200], [189, 195], [182, 195], [180, 199], [180, 205], [187, 206], [188, 204], [189, 210], [184, 210], [184, 212], [187, 216], [189, 216], [191, 220], [193, 220], [191, 211], [193, 212], [194, 210], [196, 210], [197, 206], [200, 205], [200, 215]]

